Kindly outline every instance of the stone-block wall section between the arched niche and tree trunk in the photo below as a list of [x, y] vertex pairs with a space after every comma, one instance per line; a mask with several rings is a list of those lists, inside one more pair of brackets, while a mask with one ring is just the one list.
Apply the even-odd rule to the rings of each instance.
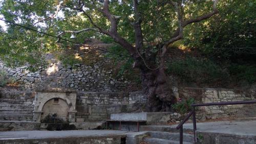
[[141, 112], [146, 104], [146, 97], [141, 91], [79, 92], [77, 97], [77, 122], [108, 119], [112, 113]]

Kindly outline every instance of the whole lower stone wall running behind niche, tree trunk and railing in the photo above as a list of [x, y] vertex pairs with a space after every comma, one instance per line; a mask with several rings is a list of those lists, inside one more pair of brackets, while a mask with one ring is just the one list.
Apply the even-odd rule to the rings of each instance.
[[[176, 88], [177, 89], [177, 88]], [[179, 98], [194, 98], [196, 103], [255, 100], [255, 90], [180, 88]], [[31, 91], [4, 91], [0, 95], [0, 121], [32, 121], [34, 94]], [[102, 121], [112, 113], [145, 111], [147, 99], [137, 92], [77, 92], [76, 122]], [[256, 116], [256, 105], [207, 106], [197, 110], [198, 119]], [[176, 122], [182, 115], [175, 113]]]

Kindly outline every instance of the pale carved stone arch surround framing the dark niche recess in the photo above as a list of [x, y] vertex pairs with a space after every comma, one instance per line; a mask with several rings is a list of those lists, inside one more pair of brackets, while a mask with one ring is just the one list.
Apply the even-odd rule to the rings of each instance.
[[34, 108], [34, 122], [40, 122], [42, 108], [46, 105], [47, 102], [53, 99], [60, 99], [66, 102], [68, 105], [68, 121], [75, 122], [76, 114], [76, 92], [75, 91], [65, 91], [65, 90], [45, 90], [45, 91], [36, 91], [35, 94], [35, 108]]

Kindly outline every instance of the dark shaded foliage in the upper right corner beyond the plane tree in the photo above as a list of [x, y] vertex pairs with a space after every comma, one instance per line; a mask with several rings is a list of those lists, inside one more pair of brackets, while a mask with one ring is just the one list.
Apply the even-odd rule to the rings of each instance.
[[254, 47], [255, 50], [255, 6], [254, 0], [220, 1], [217, 15], [185, 29], [184, 43], [223, 58], [239, 56], [238, 49], [228, 48]]

